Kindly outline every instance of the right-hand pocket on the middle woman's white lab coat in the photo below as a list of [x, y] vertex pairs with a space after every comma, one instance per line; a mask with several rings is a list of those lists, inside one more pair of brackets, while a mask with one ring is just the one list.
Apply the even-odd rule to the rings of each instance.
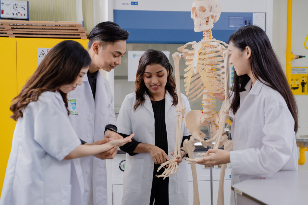
[[[187, 163], [182, 160], [179, 164], [179, 168], [177, 170], [177, 193], [185, 194], [188, 193], [188, 169]], [[189, 166], [190, 167], [190, 166]]]

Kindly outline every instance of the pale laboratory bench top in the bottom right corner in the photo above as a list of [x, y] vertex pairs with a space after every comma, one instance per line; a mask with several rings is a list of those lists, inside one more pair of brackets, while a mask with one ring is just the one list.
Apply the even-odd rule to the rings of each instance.
[[256, 177], [235, 184], [237, 204], [307, 204], [308, 170], [278, 171], [265, 179]]

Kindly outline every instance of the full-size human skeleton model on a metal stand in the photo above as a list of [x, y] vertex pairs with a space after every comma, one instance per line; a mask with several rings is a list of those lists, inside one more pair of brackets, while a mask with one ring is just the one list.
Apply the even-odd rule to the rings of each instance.
[[[178, 48], [182, 53], [173, 53], [175, 74], [176, 74], [176, 91], [178, 95], [178, 104], [176, 112], [177, 130], [176, 130], [176, 146], [172, 159], [161, 164], [157, 171], [169, 164], [162, 175], [157, 177], [168, 177], [177, 171], [177, 162], [175, 159], [180, 157], [180, 139], [181, 127], [185, 107], [181, 102], [180, 97], [180, 75], [179, 61], [183, 56], [186, 61], [187, 68], [185, 74], [185, 91], [188, 99], [193, 98], [193, 101], [202, 96], [202, 111], [192, 110], [185, 116], [184, 123], [192, 134], [190, 140], [184, 141], [189, 158], [186, 160], [191, 163], [193, 173], [193, 188], [194, 188], [194, 205], [199, 205], [199, 193], [197, 184], [197, 171], [194, 161], [193, 151], [194, 144], [200, 141], [204, 147], [209, 145], [212, 148], [220, 148], [224, 145], [226, 151], [231, 151], [233, 144], [227, 139], [224, 131], [225, 122], [229, 116], [229, 51], [228, 45], [222, 41], [213, 39], [212, 31], [213, 23], [217, 22], [221, 14], [221, 5], [217, 0], [195, 0], [191, 10], [191, 18], [194, 20], [195, 32], [203, 31], [203, 39], [198, 43], [196, 41], [186, 43]], [[192, 50], [185, 49], [188, 45], [192, 45]], [[226, 47], [225, 47], [225, 46]], [[224, 106], [217, 113], [213, 111], [216, 101], [213, 100], [214, 93], [225, 94]], [[213, 138], [205, 140], [205, 134], [201, 132], [201, 126], [212, 125]], [[215, 143], [214, 143], [215, 142]], [[214, 143], [214, 145], [213, 145]], [[205, 153], [198, 154], [206, 156]], [[217, 204], [224, 204], [223, 183], [225, 176], [226, 164], [221, 167], [218, 199]]]

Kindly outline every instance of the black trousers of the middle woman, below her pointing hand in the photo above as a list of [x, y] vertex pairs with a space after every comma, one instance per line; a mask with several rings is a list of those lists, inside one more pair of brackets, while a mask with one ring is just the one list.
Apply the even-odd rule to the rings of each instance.
[[169, 197], [168, 197], [168, 184], [169, 184], [169, 177], [163, 179], [163, 177], [156, 177], [156, 175], [160, 175], [164, 172], [164, 168], [160, 169], [157, 172], [157, 168], [159, 168], [160, 164], [154, 164], [154, 172], [153, 172], [153, 181], [152, 181], [152, 189], [151, 189], [151, 198], [150, 198], [150, 205], [168, 205], [169, 204]]

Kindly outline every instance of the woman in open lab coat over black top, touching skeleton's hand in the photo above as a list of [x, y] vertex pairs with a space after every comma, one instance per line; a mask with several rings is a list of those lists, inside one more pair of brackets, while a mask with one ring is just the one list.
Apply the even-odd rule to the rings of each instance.
[[[152, 205], [154, 199], [156, 205], [188, 204], [187, 164], [179, 164], [176, 174], [166, 179], [156, 177], [163, 172], [157, 168], [172, 157], [175, 146], [178, 99], [172, 71], [164, 53], [147, 50], [139, 61], [136, 92], [128, 94], [120, 108], [118, 132], [124, 137], [135, 134], [131, 143], [120, 147], [127, 152], [123, 205]], [[181, 97], [186, 115], [189, 102], [183, 94]], [[183, 141], [190, 137], [184, 123], [181, 136]], [[186, 155], [183, 141], [182, 157]]]

